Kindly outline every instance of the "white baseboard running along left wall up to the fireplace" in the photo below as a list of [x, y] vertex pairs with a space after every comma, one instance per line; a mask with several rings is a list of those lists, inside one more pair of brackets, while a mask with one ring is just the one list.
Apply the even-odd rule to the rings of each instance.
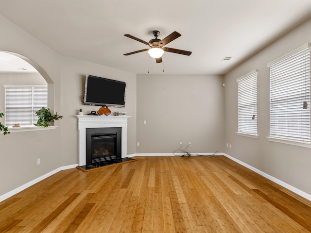
[[7, 192], [6, 194], [3, 194], [2, 196], [0, 196], [0, 202], [5, 200], [5, 199], [8, 199], [8, 198], [14, 196], [15, 194], [23, 191], [24, 189], [34, 185], [35, 183], [38, 183], [38, 182], [48, 178], [49, 176], [54, 175], [55, 173], [57, 173], [59, 171], [67, 170], [67, 169], [70, 169], [70, 168], [74, 168], [76, 166], [79, 166], [79, 165], [78, 164], [73, 164], [73, 165], [61, 166], [59, 168], [56, 168], [55, 170], [52, 170], [52, 171], [48, 172], [47, 174], [44, 174], [44, 175], [36, 178], [35, 180], [31, 181], [31, 182], [25, 183], [25, 184], [21, 185], [20, 187], [12, 190], [10, 192]]

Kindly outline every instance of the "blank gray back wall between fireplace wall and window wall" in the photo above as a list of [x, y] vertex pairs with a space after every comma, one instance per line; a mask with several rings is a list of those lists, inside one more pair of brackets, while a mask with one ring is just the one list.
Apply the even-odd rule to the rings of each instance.
[[[222, 151], [223, 77], [217, 75], [138, 75], [138, 153]], [[144, 121], [147, 124], [144, 124]]]

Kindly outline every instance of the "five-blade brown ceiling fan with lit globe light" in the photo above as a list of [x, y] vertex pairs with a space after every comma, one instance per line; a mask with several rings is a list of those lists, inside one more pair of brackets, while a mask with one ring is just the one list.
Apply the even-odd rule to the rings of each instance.
[[154, 34], [155, 38], [151, 39], [149, 42], [141, 40], [141, 39], [139, 39], [133, 35], [125, 34], [125, 36], [127, 36], [133, 40], [137, 40], [137, 41], [139, 41], [145, 45], [148, 45], [150, 47], [150, 49], [137, 50], [134, 52], [125, 53], [123, 55], [127, 56], [127, 55], [131, 55], [134, 53], [143, 52], [143, 51], [148, 50], [149, 55], [151, 57], [155, 58], [156, 63], [160, 63], [160, 62], [162, 62], [162, 55], [163, 55], [164, 51], [178, 53], [178, 54], [187, 55], [187, 56], [189, 56], [191, 54], [190, 51], [186, 51], [186, 50], [177, 50], [177, 49], [168, 48], [168, 47], [163, 48], [163, 46], [167, 45], [168, 43], [170, 43], [174, 39], [177, 39], [179, 36], [181, 36], [180, 33], [173, 32], [173, 33], [169, 34], [168, 36], [166, 36], [162, 40], [157, 38], [160, 35], [159, 31], [153, 31], [152, 33]]

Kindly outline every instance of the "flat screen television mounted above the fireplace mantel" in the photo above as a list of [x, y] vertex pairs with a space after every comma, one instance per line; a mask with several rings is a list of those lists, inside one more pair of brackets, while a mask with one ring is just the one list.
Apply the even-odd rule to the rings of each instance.
[[125, 106], [126, 83], [86, 75], [84, 104], [108, 107]]

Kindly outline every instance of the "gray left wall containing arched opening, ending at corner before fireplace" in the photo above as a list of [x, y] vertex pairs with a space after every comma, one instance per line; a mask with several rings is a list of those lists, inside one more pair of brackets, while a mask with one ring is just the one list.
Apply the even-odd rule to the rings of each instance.
[[[60, 112], [59, 55], [1, 15], [0, 28], [0, 50], [24, 55], [44, 68], [45, 76], [55, 87], [53, 109]], [[59, 128], [0, 134], [0, 195], [60, 167], [60, 141]], [[40, 166], [37, 158], [41, 159]]]

